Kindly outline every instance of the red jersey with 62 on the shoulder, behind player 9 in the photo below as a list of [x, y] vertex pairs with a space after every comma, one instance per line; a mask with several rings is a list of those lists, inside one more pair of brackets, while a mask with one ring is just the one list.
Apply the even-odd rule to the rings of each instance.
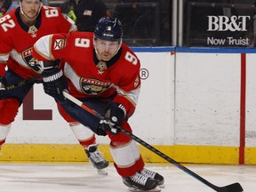
[[32, 46], [42, 36], [76, 30], [75, 22], [60, 12], [60, 8], [42, 6], [35, 25], [28, 27], [19, 16], [20, 7], [0, 19], [0, 76], [5, 66], [23, 78], [40, 72], [32, 57]]

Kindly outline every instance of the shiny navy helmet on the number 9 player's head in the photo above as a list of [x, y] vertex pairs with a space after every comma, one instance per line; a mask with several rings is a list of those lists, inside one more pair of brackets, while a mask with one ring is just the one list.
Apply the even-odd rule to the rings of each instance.
[[101, 40], [122, 42], [123, 28], [121, 21], [113, 17], [101, 18], [95, 27], [94, 36]]

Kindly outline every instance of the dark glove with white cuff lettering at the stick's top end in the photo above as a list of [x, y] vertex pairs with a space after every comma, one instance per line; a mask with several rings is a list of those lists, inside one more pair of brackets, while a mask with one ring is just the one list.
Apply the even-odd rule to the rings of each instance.
[[42, 75], [44, 92], [55, 100], [66, 100], [62, 92], [68, 92], [68, 83], [63, 76], [63, 71], [60, 68], [51, 68], [44, 70]]

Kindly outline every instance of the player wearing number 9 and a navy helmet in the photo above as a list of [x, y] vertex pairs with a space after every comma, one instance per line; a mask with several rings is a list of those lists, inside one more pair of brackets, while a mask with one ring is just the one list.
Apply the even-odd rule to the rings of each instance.
[[[116, 18], [100, 19], [94, 33], [74, 32], [40, 38], [33, 48], [37, 60], [65, 61], [60, 68], [45, 69], [44, 92], [59, 100], [61, 107], [93, 132], [106, 131], [116, 171], [130, 189], [159, 191], [164, 178], [144, 167], [140, 150], [118, 126], [132, 132], [132, 116], [140, 93], [140, 60], [122, 43], [123, 29]], [[42, 68], [44, 63], [41, 62]], [[82, 100], [108, 120], [99, 120], [65, 99], [62, 91]]]

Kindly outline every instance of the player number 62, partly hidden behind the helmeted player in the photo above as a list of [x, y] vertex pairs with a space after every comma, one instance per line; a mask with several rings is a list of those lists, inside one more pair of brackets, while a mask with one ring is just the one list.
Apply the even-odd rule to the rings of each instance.
[[[0, 19], [0, 148], [33, 84], [10, 91], [5, 91], [5, 87], [41, 73], [38, 61], [32, 56], [32, 46], [37, 39], [52, 33], [75, 30], [75, 22], [63, 15], [60, 8], [43, 6], [40, 0], [20, 0], [20, 7]], [[69, 122], [93, 166], [99, 171], [107, 167], [108, 161], [97, 150], [94, 133], [75, 120], [70, 119]]]

